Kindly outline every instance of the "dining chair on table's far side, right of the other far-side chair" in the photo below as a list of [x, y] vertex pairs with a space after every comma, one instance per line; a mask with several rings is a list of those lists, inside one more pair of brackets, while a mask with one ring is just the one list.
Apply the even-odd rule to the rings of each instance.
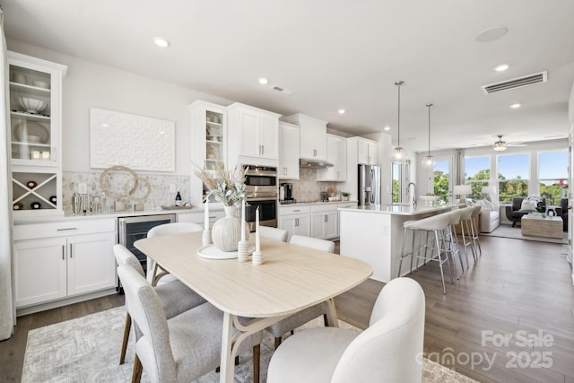
[[[307, 248], [315, 248], [321, 251], [327, 251], [329, 253], [335, 252], [335, 243], [330, 240], [304, 237], [301, 235], [291, 236], [290, 242], [294, 245], [305, 246]], [[275, 338], [275, 348], [281, 344], [283, 335], [292, 332], [295, 328], [302, 326], [309, 322], [309, 320], [315, 319], [317, 317], [323, 316], [325, 326], [327, 326], [326, 320], [326, 306], [324, 303], [319, 303], [315, 306], [311, 306], [307, 309], [291, 315], [291, 317], [284, 318], [283, 320], [274, 323], [266, 328]]]

